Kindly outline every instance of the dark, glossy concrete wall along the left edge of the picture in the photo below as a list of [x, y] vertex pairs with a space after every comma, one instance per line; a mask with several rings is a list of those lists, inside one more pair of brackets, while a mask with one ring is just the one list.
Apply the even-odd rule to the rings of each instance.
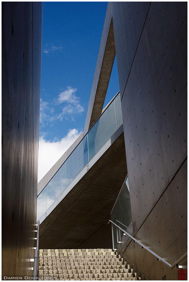
[[2, 275], [34, 258], [42, 3], [2, 3]]

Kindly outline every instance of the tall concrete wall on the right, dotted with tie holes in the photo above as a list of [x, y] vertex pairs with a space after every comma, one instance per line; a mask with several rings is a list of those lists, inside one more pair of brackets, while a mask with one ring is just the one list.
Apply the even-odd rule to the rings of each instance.
[[[108, 5], [133, 234], [173, 264], [187, 252], [187, 3]], [[125, 254], [150, 280], [164, 275], [177, 280], [176, 268], [168, 269], [133, 242]]]

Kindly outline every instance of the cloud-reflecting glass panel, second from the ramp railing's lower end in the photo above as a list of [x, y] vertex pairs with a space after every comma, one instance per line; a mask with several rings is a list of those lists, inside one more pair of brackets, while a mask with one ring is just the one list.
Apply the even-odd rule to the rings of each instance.
[[65, 190], [65, 163], [53, 176], [50, 182], [47, 184], [47, 209], [55, 202], [60, 194]]

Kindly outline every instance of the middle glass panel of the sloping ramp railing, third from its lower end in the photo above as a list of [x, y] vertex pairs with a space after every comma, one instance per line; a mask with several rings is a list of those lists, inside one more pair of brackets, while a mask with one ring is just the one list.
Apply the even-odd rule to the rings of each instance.
[[66, 187], [80, 173], [85, 165], [88, 164], [88, 162], [89, 160], [86, 135], [66, 160]]

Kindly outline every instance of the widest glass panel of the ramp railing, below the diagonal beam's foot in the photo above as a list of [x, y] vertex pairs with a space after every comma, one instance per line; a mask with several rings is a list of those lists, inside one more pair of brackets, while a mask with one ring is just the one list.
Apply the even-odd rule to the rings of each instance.
[[103, 115], [88, 132], [89, 161], [116, 132], [114, 104], [110, 104]]

